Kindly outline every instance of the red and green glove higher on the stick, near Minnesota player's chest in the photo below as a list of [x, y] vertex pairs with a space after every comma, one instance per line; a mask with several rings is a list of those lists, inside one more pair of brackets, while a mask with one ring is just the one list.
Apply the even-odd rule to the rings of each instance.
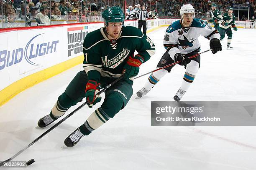
[[135, 55], [134, 57], [129, 56], [126, 64], [123, 66], [123, 78], [128, 79], [138, 75], [140, 70], [139, 66], [144, 62], [143, 57]]

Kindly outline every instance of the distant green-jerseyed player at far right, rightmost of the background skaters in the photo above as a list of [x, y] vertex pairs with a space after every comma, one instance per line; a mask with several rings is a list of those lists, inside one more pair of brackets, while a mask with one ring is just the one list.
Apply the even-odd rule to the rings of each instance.
[[222, 41], [225, 37], [225, 33], [228, 35], [228, 45], [227, 45], [227, 50], [232, 50], [233, 47], [230, 47], [230, 43], [232, 40], [232, 30], [230, 27], [232, 27], [235, 31], [237, 31], [236, 25], [235, 25], [235, 16], [232, 15], [233, 13], [233, 7], [229, 7], [228, 13], [224, 13], [221, 21], [220, 21], [220, 41]]

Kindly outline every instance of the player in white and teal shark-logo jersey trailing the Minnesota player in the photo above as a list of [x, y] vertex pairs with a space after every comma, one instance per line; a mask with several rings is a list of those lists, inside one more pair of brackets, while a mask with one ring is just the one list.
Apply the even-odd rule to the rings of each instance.
[[[186, 71], [182, 80], [182, 85], [174, 96], [174, 100], [181, 100], [182, 96], [189, 89], [189, 86], [195, 79], [200, 67], [200, 55], [189, 59], [188, 57], [198, 54], [200, 35], [210, 40], [212, 53], [221, 51], [220, 34], [215, 28], [205, 23], [201, 19], [195, 18], [195, 9], [190, 4], [182, 5], [180, 9], [181, 20], [175, 21], [169, 25], [164, 35], [164, 47], [166, 52], [159, 61], [157, 67], [164, 67], [174, 62], [180, 61], [179, 65], [184, 65]], [[170, 72], [173, 66], [153, 72], [145, 86], [136, 94], [139, 98], [146, 95], [159, 80]]]

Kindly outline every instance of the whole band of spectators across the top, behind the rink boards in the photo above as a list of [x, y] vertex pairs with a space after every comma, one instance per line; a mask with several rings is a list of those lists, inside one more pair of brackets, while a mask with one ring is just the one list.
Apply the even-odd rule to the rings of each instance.
[[[103, 21], [101, 14], [110, 6], [125, 10], [125, 20], [136, 20], [142, 4], [148, 19], [180, 18], [181, 5], [188, 3], [194, 6], [196, 18], [202, 19], [211, 17], [212, 3], [222, 14], [237, 4], [250, 5], [250, 15], [256, 14], [255, 0], [0, 0], [0, 18], [5, 24], [1, 28]], [[239, 19], [247, 20], [243, 11]]]

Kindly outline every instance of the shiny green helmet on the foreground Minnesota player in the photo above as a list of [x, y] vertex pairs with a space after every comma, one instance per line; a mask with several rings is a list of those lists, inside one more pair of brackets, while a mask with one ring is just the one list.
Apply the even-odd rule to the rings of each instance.
[[124, 22], [125, 15], [120, 7], [110, 7], [102, 13], [102, 18], [104, 18], [104, 21], [106, 25], [108, 26], [108, 23], [120, 23]]

